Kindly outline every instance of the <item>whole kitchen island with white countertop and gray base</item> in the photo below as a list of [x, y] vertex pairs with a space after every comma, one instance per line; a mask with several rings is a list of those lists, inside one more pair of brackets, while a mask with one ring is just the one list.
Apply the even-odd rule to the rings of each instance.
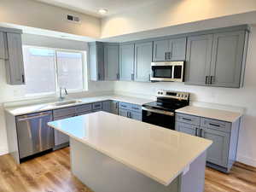
[[49, 122], [70, 137], [73, 174], [95, 192], [203, 192], [212, 141], [106, 112]]

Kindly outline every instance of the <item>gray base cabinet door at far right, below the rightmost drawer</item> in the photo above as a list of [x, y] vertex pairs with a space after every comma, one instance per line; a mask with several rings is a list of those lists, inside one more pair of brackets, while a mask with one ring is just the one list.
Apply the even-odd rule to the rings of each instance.
[[230, 133], [206, 129], [201, 131], [201, 137], [213, 142], [207, 149], [207, 161], [218, 166], [228, 166]]

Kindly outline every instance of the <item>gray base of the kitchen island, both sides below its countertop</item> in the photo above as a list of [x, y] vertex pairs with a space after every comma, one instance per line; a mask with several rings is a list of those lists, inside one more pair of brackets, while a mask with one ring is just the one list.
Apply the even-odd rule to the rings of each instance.
[[96, 192], [203, 192], [206, 152], [168, 186], [132, 170], [117, 160], [71, 138], [73, 174]]

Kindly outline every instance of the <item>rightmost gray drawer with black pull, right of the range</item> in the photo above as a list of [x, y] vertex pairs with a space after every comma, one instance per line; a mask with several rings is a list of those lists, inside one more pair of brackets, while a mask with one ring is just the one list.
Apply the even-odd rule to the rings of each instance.
[[218, 131], [231, 131], [231, 124], [229, 122], [220, 121], [216, 119], [201, 118], [201, 126]]

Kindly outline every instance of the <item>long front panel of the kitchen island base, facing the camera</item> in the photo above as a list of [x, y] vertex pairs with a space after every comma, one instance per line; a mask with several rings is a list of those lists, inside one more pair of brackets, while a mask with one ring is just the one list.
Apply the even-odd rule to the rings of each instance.
[[165, 186], [73, 138], [70, 148], [73, 174], [95, 192], [181, 192], [181, 176]]

